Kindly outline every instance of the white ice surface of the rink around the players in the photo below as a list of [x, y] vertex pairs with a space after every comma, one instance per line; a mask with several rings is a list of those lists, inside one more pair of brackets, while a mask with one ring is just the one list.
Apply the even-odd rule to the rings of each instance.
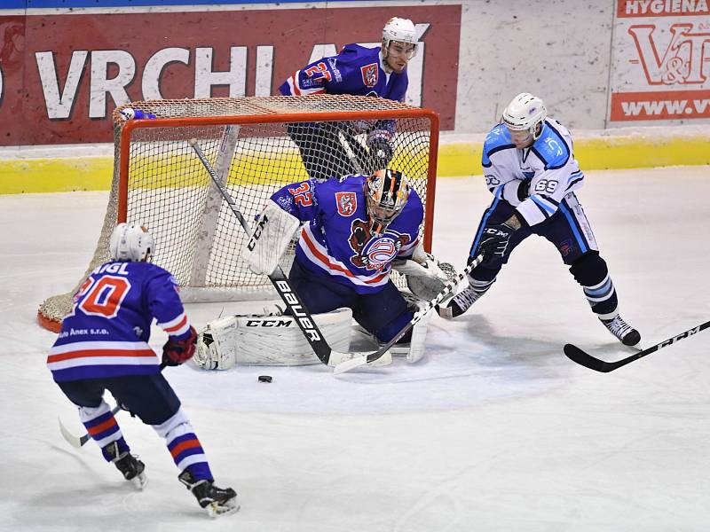
[[[710, 319], [710, 168], [588, 172], [579, 192], [622, 315], [652, 345]], [[668, 531], [710, 523], [710, 332], [617, 372], [565, 342], [627, 356], [555, 249], [525, 241], [469, 313], [433, 317], [427, 355], [390, 369], [165, 370], [241, 511], [210, 522], [150, 427], [121, 413], [143, 492], [77, 434], [44, 359], [37, 305], [91, 258], [107, 193], [0, 196], [0, 530]], [[490, 202], [441, 179], [434, 252], [461, 267]], [[160, 242], [158, 243], [160, 245]], [[195, 325], [254, 302], [188, 305]], [[154, 331], [152, 345], [165, 337]], [[270, 374], [271, 384], [257, 375]]]

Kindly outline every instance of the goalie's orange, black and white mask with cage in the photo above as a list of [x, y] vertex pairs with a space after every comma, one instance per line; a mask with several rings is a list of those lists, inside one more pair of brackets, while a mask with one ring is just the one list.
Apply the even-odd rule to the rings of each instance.
[[409, 200], [409, 179], [396, 170], [377, 170], [365, 181], [370, 232], [381, 235]]

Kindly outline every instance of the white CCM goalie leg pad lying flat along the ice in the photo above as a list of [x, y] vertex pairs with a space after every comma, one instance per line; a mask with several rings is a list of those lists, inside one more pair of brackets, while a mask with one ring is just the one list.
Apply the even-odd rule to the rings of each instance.
[[[334, 350], [350, 350], [351, 309], [314, 314], [313, 319]], [[319, 364], [291, 316], [230, 316], [210, 322], [197, 338], [193, 362], [204, 370], [235, 365]]]

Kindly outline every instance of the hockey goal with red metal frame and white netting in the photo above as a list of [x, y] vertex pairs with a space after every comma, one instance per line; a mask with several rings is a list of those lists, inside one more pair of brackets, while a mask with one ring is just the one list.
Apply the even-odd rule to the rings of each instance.
[[[126, 121], [119, 112], [127, 107], [156, 118]], [[91, 270], [109, 261], [108, 239], [120, 222], [140, 222], [151, 231], [153, 262], [177, 279], [183, 301], [277, 299], [269, 279], [241, 261], [248, 236], [188, 144], [191, 138], [241, 214], [254, 220], [273, 192], [309, 178], [307, 160], [325, 162], [334, 175], [374, 171], [367, 133], [385, 129], [393, 148], [388, 168], [402, 171], [421, 196], [420, 238], [430, 250], [438, 149], [438, 115], [430, 110], [346, 95], [245, 97], [135, 102], [118, 107], [113, 119], [114, 177], [99, 242], [75, 288], [40, 306], [37, 319], [51, 331], [59, 332]], [[292, 260], [293, 249], [281, 260], [287, 274]]]

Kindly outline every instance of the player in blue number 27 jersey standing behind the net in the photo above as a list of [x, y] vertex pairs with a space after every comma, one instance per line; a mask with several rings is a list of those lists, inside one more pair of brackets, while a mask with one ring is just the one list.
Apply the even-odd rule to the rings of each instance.
[[[379, 47], [346, 44], [337, 55], [297, 70], [279, 90], [284, 96], [351, 94], [404, 102], [406, 65], [416, 49], [414, 23], [393, 18], [383, 28]], [[394, 153], [394, 121], [289, 124], [287, 130], [312, 179], [371, 173], [386, 168]], [[355, 138], [366, 132], [367, 147]]]

